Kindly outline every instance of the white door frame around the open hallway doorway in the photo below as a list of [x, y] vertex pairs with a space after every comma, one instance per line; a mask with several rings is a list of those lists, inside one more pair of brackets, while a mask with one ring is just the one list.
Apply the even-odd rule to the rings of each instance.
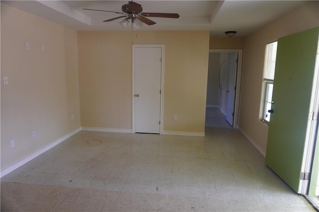
[[209, 49], [209, 53], [238, 53], [236, 94], [235, 94], [234, 121], [233, 121], [233, 127], [238, 128], [243, 50], [242, 49]]

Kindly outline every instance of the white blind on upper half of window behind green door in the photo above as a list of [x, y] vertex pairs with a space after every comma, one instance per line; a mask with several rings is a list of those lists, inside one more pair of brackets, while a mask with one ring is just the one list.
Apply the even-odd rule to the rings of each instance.
[[276, 66], [276, 55], [277, 55], [277, 41], [267, 44], [266, 47], [266, 63], [264, 71], [264, 80], [274, 81], [275, 77], [275, 66]]

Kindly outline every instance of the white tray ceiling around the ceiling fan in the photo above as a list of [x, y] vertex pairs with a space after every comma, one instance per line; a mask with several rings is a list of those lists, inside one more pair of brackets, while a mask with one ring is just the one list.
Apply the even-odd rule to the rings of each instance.
[[[211, 36], [225, 36], [237, 31], [246, 36], [267, 23], [306, 3], [305, 0], [134, 0], [142, 4], [143, 12], [178, 13], [178, 19], [151, 18], [155, 25], [146, 24], [140, 30], [209, 30]], [[119, 22], [103, 20], [120, 16], [123, 0], [1, 0], [2, 3], [35, 14], [78, 31], [109, 31], [123, 29]]]

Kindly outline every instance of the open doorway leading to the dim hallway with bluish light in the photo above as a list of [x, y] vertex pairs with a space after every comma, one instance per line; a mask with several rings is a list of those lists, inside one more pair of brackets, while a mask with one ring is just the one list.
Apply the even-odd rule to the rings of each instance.
[[209, 50], [206, 127], [238, 127], [241, 49]]

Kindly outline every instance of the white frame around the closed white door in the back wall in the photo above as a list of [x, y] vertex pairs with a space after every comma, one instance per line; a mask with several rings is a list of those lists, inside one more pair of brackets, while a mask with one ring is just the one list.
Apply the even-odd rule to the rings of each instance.
[[132, 133], [135, 133], [135, 48], [161, 48], [161, 74], [160, 74], [160, 134], [163, 133], [163, 106], [164, 106], [164, 44], [132, 44]]

